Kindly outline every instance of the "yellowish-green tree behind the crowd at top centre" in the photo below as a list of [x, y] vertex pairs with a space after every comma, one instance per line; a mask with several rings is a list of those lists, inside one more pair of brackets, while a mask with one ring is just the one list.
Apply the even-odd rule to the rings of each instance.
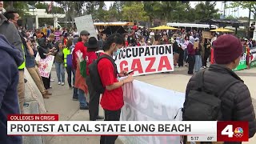
[[148, 21], [149, 17], [146, 15], [142, 2], [134, 2], [130, 6], [123, 6], [122, 16], [129, 22]]

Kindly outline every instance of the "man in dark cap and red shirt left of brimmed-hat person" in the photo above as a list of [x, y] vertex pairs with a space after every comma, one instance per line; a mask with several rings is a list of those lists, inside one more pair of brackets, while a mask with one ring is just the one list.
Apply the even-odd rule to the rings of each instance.
[[82, 77], [80, 70], [80, 62], [86, 58], [86, 46], [84, 44], [88, 41], [90, 33], [86, 30], [82, 30], [78, 43], [74, 46], [72, 52], [72, 66], [75, 70], [74, 87], [78, 89], [78, 100], [80, 103], [80, 110], [89, 110], [89, 106], [86, 102], [85, 94], [88, 94], [86, 86], [86, 79]]

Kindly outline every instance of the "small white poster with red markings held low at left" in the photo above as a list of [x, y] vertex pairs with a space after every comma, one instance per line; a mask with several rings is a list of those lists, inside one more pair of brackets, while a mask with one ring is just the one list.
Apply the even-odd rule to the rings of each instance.
[[48, 55], [45, 59], [42, 59], [40, 58], [40, 55], [37, 54], [35, 61], [38, 61], [40, 63], [40, 66], [38, 67], [40, 75], [44, 78], [49, 78], [51, 68], [54, 64], [54, 56]]

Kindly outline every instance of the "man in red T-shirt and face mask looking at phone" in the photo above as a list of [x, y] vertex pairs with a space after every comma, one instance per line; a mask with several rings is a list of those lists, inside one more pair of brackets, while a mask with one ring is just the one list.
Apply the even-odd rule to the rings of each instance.
[[[104, 52], [113, 58], [118, 55], [120, 48], [124, 46], [124, 38], [121, 34], [110, 35], [106, 39], [105, 45], [103, 46]], [[101, 54], [101, 55], [102, 55]], [[132, 75], [128, 75], [122, 81], [118, 81], [119, 77], [124, 77], [127, 72], [122, 70], [119, 74], [114, 71], [114, 66], [108, 58], [102, 58], [98, 62], [98, 74], [102, 80], [102, 85], [106, 87], [105, 92], [102, 94], [101, 105], [105, 112], [105, 121], [119, 121], [123, 102], [122, 86], [126, 83], [133, 82], [134, 78]], [[114, 144], [116, 136], [101, 136], [100, 144]]]

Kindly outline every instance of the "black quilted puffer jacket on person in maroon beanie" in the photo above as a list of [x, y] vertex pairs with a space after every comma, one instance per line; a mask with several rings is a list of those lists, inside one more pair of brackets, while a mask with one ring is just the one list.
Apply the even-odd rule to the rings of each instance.
[[[222, 95], [222, 120], [223, 121], [248, 121], [249, 122], [249, 138], [252, 138], [256, 132], [256, 121], [254, 106], [250, 98], [250, 91], [232, 70], [219, 66], [217, 64], [210, 65], [209, 70], [204, 74], [204, 86], [208, 90], [222, 90], [222, 83], [233, 82], [239, 80], [234, 86], [230, 86], [226, 93]], [[198, 75], [195, 74], [190, 78], [190, 82], [186, 87], [186, 97], [190, 90], [198, 88]], [[185, 99], [186, 102], [186, 99]], [[242, 143], [242, 142], [240, 142]]]

